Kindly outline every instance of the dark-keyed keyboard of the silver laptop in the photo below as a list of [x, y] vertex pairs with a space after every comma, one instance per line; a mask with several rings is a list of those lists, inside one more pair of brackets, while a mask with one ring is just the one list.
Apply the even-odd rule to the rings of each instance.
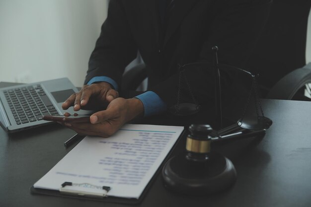
[[17, 125], [42, 120], [45, 115], [59, 115], [41, 85], [3, 91]]

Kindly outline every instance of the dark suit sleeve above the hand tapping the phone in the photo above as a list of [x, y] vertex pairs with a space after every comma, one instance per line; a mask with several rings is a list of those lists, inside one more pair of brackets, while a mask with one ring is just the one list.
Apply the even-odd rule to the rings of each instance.
[[108, 15], [101, 27], [84, 84], [95, 76], [107, 76], [121, 85], [125, 67], [137, 57], [137, 46], [120, 0], [110, 0]]

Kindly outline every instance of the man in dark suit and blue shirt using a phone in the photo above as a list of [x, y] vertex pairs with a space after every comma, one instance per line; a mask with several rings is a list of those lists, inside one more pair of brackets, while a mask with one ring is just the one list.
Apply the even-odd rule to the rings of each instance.
[[[211, 61], [243, 68], [267, 19], [270, 0], [110, 0], [108, 16], [89, 60], [85, 85], [63, 104], [78, 111], [104, 105], [90, 123], [65, 125], [79, 134], [109, 137], [124, 123], [165, 113], [176, 102], [178, 67]], [[140, 52], [146, 64], [148, 91], [119, 97], [125, 67]], [[200, 104], [213, 99], [213, 78], [204, 70], [187, 72]], [[182, 94], [191, 100], [191, 94]]]

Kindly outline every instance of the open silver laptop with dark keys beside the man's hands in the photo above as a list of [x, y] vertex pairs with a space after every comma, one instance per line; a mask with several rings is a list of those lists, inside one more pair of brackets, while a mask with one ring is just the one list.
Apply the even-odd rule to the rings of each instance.
[[[43, 116], [63, 115], [62, 104], [76, 92], [68, 78], [0, 88], [0, 124], [8, 133], [49, 124]], [[75, 113], [73, 107], [66, 112]]]

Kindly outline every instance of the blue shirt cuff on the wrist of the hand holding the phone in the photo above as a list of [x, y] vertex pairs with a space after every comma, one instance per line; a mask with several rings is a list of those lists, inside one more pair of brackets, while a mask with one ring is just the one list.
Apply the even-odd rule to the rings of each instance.
[[144, 104], [145, 117], [159, 114], [166, 111], [167, 106], [162, 99], [153, 91], [147, 91], [136, 96]]

